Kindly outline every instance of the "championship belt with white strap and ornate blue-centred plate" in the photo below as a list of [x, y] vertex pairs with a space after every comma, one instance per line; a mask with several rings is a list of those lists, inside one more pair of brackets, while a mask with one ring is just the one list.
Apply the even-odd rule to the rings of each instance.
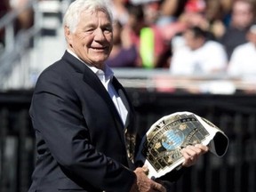
[[210, 121], [190, 112], [178, 112], [160, 118], [140, 144], [137, 160], [148, 166], [149, 178], [158, 178], [184, 162], [180, 150], [203, 144], [216, 156], [224, 156], [228, 137]]

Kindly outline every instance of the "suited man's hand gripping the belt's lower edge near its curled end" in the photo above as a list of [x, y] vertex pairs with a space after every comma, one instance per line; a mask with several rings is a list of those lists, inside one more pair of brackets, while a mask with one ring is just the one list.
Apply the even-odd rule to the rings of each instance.
[[185, 158], [185, 161], [182, 165], [189, 167], [193, 164], [196, 164], [198, 157], [206, 153], [208, 150], [209, 148], [202, 144], [196, 144], [195, 146], [188, 145], [186, 148], [182, 148], [181, 154]]

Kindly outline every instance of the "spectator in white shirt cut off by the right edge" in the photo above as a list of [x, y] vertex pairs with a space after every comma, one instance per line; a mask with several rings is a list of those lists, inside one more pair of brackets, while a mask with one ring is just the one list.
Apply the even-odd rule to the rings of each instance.
[[247, 32], [248, 43], [238, 45], [228, 64], [229, 76], [256, 75], [256, 24]]

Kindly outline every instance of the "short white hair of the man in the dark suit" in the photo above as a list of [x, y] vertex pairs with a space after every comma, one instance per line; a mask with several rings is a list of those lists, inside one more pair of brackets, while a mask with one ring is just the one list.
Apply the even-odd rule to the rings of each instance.
[[81, 12], [92, 13], [96, 11], [105, 12], [111, 22], [113, 22], [113, 15], [106, 0], [75, 0], [68, 6], [68, 10], [63, 18], [63, 25], [68, 27], [69, 30], [74, 33], [76, 31], [76, 26], [81, 19]]

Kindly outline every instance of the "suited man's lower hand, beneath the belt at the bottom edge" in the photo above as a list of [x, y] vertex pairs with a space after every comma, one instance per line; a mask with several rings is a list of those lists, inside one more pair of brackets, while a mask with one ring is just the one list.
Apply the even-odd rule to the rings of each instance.
[[166, 192], [163, 185], [148, 179], [147, 167], [139, 167], [135, 171], [136, 180], [132, 185], [130, 192]]

